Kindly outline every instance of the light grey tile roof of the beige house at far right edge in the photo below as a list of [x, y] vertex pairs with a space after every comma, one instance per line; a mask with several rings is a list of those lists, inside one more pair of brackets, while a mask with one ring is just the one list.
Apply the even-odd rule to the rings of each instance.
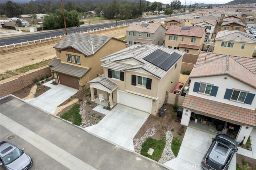
[[224, 40], [232, 42], [246, 42], [246, 43], [256, 43], [256, 38], [253, 35], [247, 34], [245, 32], [240, 32], [238, 30], [234, 31], [220, 31], [216, 34], [215, 40]]

